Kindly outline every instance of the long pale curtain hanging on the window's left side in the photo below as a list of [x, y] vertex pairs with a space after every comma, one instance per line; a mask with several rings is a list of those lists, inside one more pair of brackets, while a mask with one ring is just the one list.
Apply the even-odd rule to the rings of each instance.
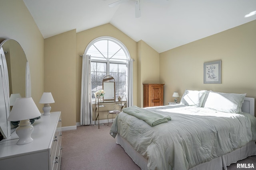
[[80, 125], [92, 124], [91, 61], [83, 55], [81, 80]]

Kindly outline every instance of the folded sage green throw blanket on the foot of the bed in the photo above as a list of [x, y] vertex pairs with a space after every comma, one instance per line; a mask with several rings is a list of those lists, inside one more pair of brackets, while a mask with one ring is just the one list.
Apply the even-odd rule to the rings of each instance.
[[137, 106], [126, 107], [123, 109], [123, 112], [129, 115], [133, 115], [138, 119], [144, 120], [150, 126], [167, 123], [169, 120], [171, 120], [171, 117], [169, 116], [164, 117], [160, 114], [149, 111], [148, 109], [140, 108]]

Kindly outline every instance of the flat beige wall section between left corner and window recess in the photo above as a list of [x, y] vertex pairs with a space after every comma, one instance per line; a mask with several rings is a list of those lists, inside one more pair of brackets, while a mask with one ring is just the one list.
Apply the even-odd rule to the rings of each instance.
[[76, 125], [76, 30], [44, 40], [44, 92], [51, 92], [51, 111], [61, 111], [62, 126]]

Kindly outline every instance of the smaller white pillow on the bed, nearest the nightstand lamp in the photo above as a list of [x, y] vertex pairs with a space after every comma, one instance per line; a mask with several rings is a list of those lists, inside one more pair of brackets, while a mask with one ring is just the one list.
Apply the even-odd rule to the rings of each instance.
[[201, 107], [206, 91], [207, 90], [185, 90], [180, 100], [180, 104]]

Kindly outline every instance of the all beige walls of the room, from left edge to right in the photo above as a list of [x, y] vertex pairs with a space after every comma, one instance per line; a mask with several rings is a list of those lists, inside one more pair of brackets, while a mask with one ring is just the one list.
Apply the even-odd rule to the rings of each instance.
[[[79, 33], [71, 30], [44, 43], [23, 1], [0, 0], [0, 4], [0, 41], [15, 39], [23, 47], [30, 64], [32, 98], [42, 111], [43, 104], [38, 104], [42, 93], [52, 92], [56, 101], [51, 104], [52, 111], [62, 111], [63, 126], [80, 121], [80, 55], [100, 36], [120, 40], [135, 59], [134, 105], [143, 103], [143, 83], [165, 83], [164, 104], [174, 100], [174, 91], [182, 95], [185, 89], [247, 93], [256, 98], [255, 20], [158, 54], [144, 41], [136, 43], [110, 23]], [[203, 64], [216, 60], [222, 60], [222, 84], [204, 84]]]

